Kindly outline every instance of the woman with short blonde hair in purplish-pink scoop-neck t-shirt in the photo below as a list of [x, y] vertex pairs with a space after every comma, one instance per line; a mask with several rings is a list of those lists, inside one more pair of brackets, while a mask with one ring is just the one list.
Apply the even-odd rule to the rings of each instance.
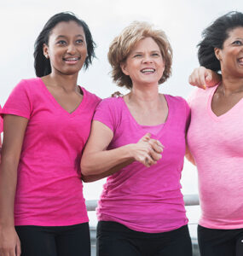
[[81, 162], [84, 181], [112, 174], [97, 209], [97, 255], [192, 255], [180, 184], [189, 108], [159, 93], [171, 75], [171, 44], [134, 22], [114, 38], [108, 60], [130, 92], [96, 108]]

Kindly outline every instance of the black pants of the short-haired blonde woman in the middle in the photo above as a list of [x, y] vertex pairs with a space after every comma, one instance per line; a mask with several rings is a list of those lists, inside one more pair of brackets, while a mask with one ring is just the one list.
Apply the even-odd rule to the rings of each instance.
[[188, 226], [163, 233], [143, 233], [122, 224], [100, 221], [97, 226], [97, 256], [191, 256]]

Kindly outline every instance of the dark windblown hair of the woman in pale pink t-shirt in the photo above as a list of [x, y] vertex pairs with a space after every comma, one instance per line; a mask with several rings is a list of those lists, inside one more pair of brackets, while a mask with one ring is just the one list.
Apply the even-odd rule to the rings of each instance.
[[198, 59], [200, 66], [209, 68], [215, 72], [221, 70], [220, 62], [214, 53], [214, 49], [223, 49], [224, 41], [229, 38], [229, 32], [234, 28], [243, 26], [243, 14], [232, 11], [215, 20], [211, 26], [202, 32], [202, 41], [198, 44]]

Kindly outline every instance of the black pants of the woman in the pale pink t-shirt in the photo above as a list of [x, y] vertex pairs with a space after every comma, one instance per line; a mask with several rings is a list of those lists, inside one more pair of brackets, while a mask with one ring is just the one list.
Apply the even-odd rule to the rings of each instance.
[[243, 256], [243, 229], [215, 230], [198, 226], [201, 256]]

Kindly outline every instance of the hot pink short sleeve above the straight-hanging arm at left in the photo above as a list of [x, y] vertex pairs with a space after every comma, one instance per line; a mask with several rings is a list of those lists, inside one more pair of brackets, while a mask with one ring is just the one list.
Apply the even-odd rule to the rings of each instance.
[[2, 116], [3, 114], [14, 114], [30, 119], [32, 102], [28, 85], [26, 80], [21, 80], [20, 83], [14, 87], [14, 90], [11, 92], [3, 107], [1, 112]]

